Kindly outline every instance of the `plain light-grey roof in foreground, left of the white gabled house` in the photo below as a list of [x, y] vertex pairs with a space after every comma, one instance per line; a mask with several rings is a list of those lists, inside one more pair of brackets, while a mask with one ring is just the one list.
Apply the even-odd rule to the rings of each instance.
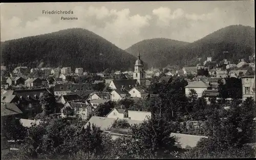
[[113, 126], [116, 120], [117, 120], [116, 118], [93, 116], [86, 123], [86, 125], [83, 126], [83, 128], [86, 129], [89, 124], [92, 127], [92, 125], [94, 124], [95, 126], [99, 127], [101, 130], [108, 130]]

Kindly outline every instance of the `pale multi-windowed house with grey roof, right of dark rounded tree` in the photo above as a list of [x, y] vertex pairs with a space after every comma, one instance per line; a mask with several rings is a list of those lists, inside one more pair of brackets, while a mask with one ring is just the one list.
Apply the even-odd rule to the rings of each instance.
[[67, 102], [65, 106], [60, 110], [62, 118], [66, 117], [66, 115], [63, 114], [63, 109], [65, 109], [65, 107], [67, 106], [71, 107], [74, 110], [74, 116], [76, 118], [87, 120], [88, 117], [93, 115], [94, 108], [90, 103]]

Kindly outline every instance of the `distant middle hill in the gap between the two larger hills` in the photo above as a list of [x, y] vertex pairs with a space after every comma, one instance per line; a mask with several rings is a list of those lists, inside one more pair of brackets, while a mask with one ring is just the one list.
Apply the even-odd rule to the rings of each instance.
[[139, 41], [125, 51], [137, 56], [139, 50], [141, 59], [148, 63], [149, 67], [164, 67], [161, 63], [168, 64], [166, 57], [172, 57], [178, 48], [186, 44], [189, 43], [167, 38], [153, 38]]

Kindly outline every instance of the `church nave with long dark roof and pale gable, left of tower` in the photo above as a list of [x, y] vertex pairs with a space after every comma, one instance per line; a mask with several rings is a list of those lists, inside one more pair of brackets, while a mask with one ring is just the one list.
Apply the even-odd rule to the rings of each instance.
[[125, 89], [131, 89], [133, 86], [139, 85], [136, 79], [122, 79], [122, 80], [113, 80], [110, 83], [110, 88], [120, 89], [124, 87]]

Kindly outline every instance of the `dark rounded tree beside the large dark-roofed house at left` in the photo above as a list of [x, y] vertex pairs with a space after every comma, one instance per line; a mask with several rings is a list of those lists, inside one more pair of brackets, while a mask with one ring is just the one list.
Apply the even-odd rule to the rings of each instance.
[[56, 101], [54, 95], [50, 93], [44, 93], [39, 97], [39, 103], [42, 106], [42, 110], [49, 115], [56, 110]]

